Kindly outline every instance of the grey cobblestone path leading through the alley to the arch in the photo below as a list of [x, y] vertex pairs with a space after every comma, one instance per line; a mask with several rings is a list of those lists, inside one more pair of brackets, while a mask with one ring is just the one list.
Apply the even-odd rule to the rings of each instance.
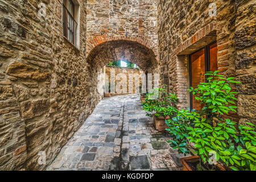
[[180, 170], [170, 136], [154, 128], [138, 94], [104, 98], [48, 170]]

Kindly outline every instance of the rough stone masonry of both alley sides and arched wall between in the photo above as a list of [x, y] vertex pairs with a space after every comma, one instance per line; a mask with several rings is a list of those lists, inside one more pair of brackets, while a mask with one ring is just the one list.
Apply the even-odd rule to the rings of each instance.
[[[234, 76], [238, 114], [255, 123], [255, 1], [74, 0], [79, 46], [63, 36], [61, 0], [0, 0], [0, 169], [42, 170], [101, 100], [98, 75], [129, 60], [188, 107], [188, 54], [217, 41], [218, 68]], [[209, 3], [217, 16], [209, 17]], [[38, 16], [39, 3], [46, 16]], [[46, 164], [38, 164], [39, 152]]]

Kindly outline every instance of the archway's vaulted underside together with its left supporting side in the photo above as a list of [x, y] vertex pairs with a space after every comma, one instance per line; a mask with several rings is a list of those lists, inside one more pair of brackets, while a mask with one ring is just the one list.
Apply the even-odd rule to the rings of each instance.
[[[98, 44], [87, 57], [86, 61], [90, 65], [93, 88], [102, 88], [104, 83], [99, 85], [102, 82], [102, 78], [99, 78], [102, 68], [117, 60], [127, 60], [135, 63], [144, 73], [154, 74], [158, 72], [158, 61], [155, 52], [151, 48], [132, 40], [110, 40]], [[102, 92], [98, 96], [100, 95], [102, 96]]]

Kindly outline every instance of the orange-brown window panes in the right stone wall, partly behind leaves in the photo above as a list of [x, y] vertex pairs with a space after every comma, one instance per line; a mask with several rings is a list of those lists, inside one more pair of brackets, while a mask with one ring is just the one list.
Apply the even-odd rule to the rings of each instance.
[[[206, 72], [214, 72], [217, 69], [217, 43], [214, 42], [189, 55], [190, 86], [196, 88], [200, 82], [205, 82]], [[190, 95], [190, 107], [196, 110], [201, 110], [204, 107], [192, 93]]]

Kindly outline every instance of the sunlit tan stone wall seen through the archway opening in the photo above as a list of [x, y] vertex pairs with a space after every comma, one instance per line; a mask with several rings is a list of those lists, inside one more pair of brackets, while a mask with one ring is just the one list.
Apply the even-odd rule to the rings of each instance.
[[[121, 68], [121, 67], [106, 66], [105, 74], [106, 74], [106, 77], [108, 77], [107, 79], [109, 80], [109, 83], [110, 83], [111, 69], [113, 69], [112, 72], [115, 73], [115, 78], [112, 76], [112, 79], [115, 80], [115, 86], [120, 88], [121, 91], [124, 90], [122, 93], [118, 93], [117, 89], [115, 89], [115, 93], [111, 93], [113, 96], [139, 92], [139, 88], [135, 88], [135, 86], [139, 86], [141, 84], [143, 71], [137, 68]], [[129, 80], [132, 80], [130, 82], [133, 83], [133, 85], [130, 85], [130, 87], [129, 87]], [[126, 85], [127, 88], [125, 89], [121, 85]]]

